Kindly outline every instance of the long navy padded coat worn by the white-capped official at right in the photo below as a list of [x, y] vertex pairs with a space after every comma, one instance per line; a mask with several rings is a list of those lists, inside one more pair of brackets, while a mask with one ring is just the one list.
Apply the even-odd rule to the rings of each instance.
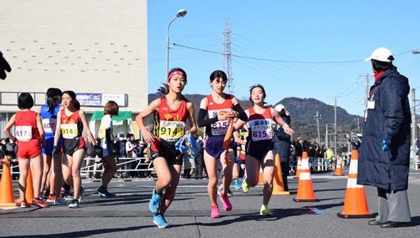
[[[396, 68], [385, 71], [371, 87], [369, 100], [374, 102], [374, 109], [368, 106], [365, 114], [358, 184], [407, 190], [411, 123], [408, 93], [408, 78]], [[381, 150], [383, 139], [391, 140], [389, 151]]]

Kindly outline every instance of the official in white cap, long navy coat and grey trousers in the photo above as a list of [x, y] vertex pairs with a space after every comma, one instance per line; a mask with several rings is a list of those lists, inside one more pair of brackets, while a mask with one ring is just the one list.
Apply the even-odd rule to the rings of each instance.
[[365, 111], [359, 148], [357, 183], [377, 187], [378, 216], [369, 222], [381, 228], [407, 225], [410, 146], [408, 78], [393, 66], [391, 50], [378, 48], [365, 61], [372, 62], [374, 85]]

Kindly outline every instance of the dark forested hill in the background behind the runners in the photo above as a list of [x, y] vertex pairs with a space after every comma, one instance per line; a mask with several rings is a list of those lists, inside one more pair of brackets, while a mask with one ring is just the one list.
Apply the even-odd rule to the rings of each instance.
[[[148, 94], [148, 102], [152, 102], [154, 99], [161, 97], [162, 94], [159, 92], [154, 94]], [[184, 95], [190, 102], [193, 102], [195, 108], [195, 117], [197, 118], [198, 111], [200, 109], [201, 100], [206, 97], [202, 94], [185, 94]], [[248, 109], [252, 106], [252, 103], [248, 100], [239, 100], [242, 108]], [[321, 141], [325, 138], [325, 124], [330, 124], [329, 134], [332, 134], [334, 123], [334, 106], [325, 104], [317, 99], [312, 98], [297, 98], [297, 97], [286, 97], [276, 104], [283, 104], [287, 111], [290, 112], [290, 118], [292, 120], [291, 127], [295, 130], [294, 138], [301, 137], [302, 139], [314, 140], [317, 137], [316, 120], [314, 116], [316, 111], [321, 114], [322, 118], [319, 120]], [[273, 106], [273, 105], [267, 105]], [[360, 128], [363, 126], [363, 118], [360, 116], [351, 115], [346, 110], [337, 106], [337, 131], [338, 133], [345, 134], [349, 130], [356, 132], [359, 118]], [[152, 122], [152, 117], [146, 118], [146, 125]], [[340, 140], [340, 139], [339, 139]]]

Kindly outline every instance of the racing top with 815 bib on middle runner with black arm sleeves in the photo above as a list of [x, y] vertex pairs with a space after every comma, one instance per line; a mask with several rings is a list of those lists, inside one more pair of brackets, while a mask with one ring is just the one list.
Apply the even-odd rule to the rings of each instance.
[[[232, 95], [225, 94], [225, 102], [218, 104], [214, 102], [213, 96], [207, 96], [207, 113], [209, 118], [214, 118], [220, 114], [221, 111], [233, 111]], [[228, 132], [230, 120], [219, 120], [216, 123], [206, 126], [206, 134], [208, 136], [225, 136]]]

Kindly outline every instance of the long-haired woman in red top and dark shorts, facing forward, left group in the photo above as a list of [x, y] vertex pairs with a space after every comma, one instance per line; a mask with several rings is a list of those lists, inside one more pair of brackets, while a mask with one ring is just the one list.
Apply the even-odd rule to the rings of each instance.
[[76, 94], [73, 91], [64, 91], [62, 93], [62, 104], [64, 109], [59, 111], [57, 115], [57, 118], [60, 119], [57, 120], [52, 157], [57, 156], [57, 144], [59, 137], [62, 135], [63, 178], [67, 184], [73, 185], [74, 190], [74, 199], [69, 204], [69, 208], [78, 208], [83, 193], [80, 179], [80, 166], [85, 153], [85, 139], [82, 137], [83, 129], [94, 146], [96, 146], [96, 141], [89, 130], [89, 125], [87, 125], [85, 112], [80, 109], [80, 104], [76, 100]]

